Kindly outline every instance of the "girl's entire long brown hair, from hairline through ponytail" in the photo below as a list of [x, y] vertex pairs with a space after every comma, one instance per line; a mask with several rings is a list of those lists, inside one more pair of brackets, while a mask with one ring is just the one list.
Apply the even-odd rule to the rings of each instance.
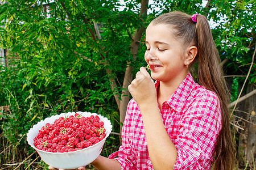
[[191, 17], [183, 12], [172, 11], [159, 16], [151, 23], [170, 25], [177, 40], [181, 40], [185, 46], [197, 47], [198, 52], [193, 63], [198, 61], [199, 83], [216, 93], [221, 108], [222, 128], [215, 145], [214, 169], [233, 169], [234, 147], [229, 126], [229, 92], [220, 66], [220, 56], [207, 18], [204, 15], [197, 15], [197, 22], [193, 22]]

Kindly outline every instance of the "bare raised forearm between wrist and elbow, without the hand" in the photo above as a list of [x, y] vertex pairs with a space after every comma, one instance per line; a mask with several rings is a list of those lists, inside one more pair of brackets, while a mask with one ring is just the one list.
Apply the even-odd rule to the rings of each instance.
[[154, 169], [173, 169], [177, 150], [164, 128], [158, 105], [140, 107], [146, 133], [148, 153]]

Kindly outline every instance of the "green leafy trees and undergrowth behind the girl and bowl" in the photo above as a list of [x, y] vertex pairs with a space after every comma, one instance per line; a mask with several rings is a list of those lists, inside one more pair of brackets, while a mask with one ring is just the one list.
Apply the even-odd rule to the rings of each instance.
[[47, 169], [26, 134], [63, 112], [108, 117], [113, 133], [101, 155], [117, 151], [127, 86], [146, 66], [145, 28], [174, 10], [210, 21], [231, 94], [236, 169], [255, 169], [255, 0], [0, 2], [0, 169]]

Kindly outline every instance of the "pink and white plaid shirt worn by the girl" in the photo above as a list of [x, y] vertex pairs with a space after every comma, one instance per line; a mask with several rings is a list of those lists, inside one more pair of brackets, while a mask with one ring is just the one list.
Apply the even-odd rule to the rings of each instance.
[[[158, 88], [158, 81], [155, 86]], [[210, 169], [214, 144], [221, 129], [220, 108], [214, 92], [195, 83], [189, 73], [170, 99], [163, 103], [160, 114], [177, 149], [174, 169]], [[122, 145], [109, 158], [117, 159], [122, 169], [154, 169], [141, 112], [134, 99], [127, 106]]]

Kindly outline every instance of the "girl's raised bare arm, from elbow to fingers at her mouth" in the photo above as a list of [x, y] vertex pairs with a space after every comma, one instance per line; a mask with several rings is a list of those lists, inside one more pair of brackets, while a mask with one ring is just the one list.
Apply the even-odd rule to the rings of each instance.
[[128, 87], [141, 110], [148, 153], [154, 169], [173, 169], [177, 150], [164, 128], [153, 80], [143, 67]]

